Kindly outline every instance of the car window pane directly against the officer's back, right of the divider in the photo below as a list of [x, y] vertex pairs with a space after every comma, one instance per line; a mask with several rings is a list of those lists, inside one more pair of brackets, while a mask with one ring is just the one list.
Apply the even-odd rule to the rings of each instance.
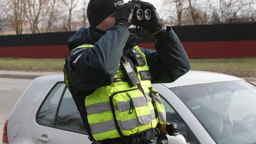
[[56, 126], [68, 130], [87, 133], [80, 113], [77, 110], [72, 95], [70, 94], [70, 91], [67, 88], [65, 90], [64, 96], [60, 104]]

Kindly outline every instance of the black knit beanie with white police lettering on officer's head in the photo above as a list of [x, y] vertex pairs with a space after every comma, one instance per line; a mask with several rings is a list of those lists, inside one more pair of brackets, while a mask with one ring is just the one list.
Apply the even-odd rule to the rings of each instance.
[[123, 0], [90, 0], [87, 6], [87, 18], [90, 26], [97, 26], [123, 4]]

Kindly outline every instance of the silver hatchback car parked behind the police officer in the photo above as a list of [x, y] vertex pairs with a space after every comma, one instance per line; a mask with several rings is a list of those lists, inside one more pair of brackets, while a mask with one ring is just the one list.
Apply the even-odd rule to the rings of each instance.
[[[256, 143], [256, 86], [243, 79], [190, 70], [173, 83], [152, 84], [166, 121], [177, 123], [168, 144]], [[63, 75], [34, 79], [9, 114], [3, 144], [90, 144]]]

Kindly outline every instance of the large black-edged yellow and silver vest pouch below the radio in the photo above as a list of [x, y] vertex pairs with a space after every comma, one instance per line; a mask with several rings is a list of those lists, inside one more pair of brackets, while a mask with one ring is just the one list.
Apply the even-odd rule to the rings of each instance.
[[112, 94], [110, 105], [117, 129], [130, 130], [153, 120], [146, 98], [137, 88]]

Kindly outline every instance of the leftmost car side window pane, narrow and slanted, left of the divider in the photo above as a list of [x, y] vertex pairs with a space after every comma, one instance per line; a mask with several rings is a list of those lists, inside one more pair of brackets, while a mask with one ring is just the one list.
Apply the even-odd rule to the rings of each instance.
[[64, 88], [64, 83], [58, 83], [50, 92], [38, 113], [38, 122], [47, 125], [54, 125], [55, 114]]

